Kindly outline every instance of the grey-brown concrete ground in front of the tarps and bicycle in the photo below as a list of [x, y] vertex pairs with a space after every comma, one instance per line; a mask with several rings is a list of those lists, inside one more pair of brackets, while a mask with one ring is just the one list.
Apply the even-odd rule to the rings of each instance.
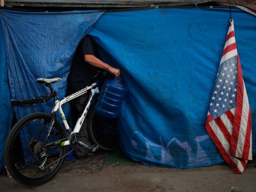
[[256, 191], [256, 165], [235, 175], [226, 164], [178, 170], [144, 165], [106, 166], [100, 172], [59, 173], [37, 187], [0, 175], [0, 191]]

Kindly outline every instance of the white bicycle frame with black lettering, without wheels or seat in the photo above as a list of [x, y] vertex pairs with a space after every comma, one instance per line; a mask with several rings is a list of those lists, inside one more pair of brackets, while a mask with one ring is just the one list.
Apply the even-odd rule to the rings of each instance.
[[[90, 98], [89, 98], [89, 100], [86, 104], [86, 107], [84, 108], [84, 111], [83, 111], [82, 115], [78, 118], [78, 120], [76, 122], [76, 126], [74, 127], [74, 130], [71, 132], [70, 136], [72, 134], [77, 133], [77, 132], [80, 131], [81, 126], [83, 125], [84, 119], [86, 117], [86, 114], [88, 112], [88, 109], [90, 108], [90, 105], [92, 103], [93, 96], [95, 95], [95, 93], [99, 93], [99, 88], [97, 86], [97, 83], [93, 83], [90, 86], [86, 86], [86, 88], [83, 88], [82, 90], [79, 90], [78, 92], [73, 93], [72, 95], [69, 95], [67, 97], [63, 97], [63, 99], [61, 99], [61, 100], [56, 100], [55, 106], [52, 109], [52, 114], [56, 113], [57, 110], [59, 111], [60, 116], [61, 116], [61, 120], [62, 120], [62, 122], [65, 126], [65, 129], [71, 130], [70, 127], [68, 126], [68, 122], [67, 122], [65, 114], [63, 112], [62, 105], [69, 102], [72, 99], [75, 99], [75, 98], [83, 95], [84, 93], [88, 92], [88, 90], [90, 90], [92, 92], [92, 95], [90, 95]], [[53, 124], [53, 123], [54, 122], [51, 122], [51, 124]], [[69, 139], [68, 139], [68, 141], [63, 141], [61, 143], [61, 146], [65, 146], [65, 145], [70, 145], [70, 140]]]

